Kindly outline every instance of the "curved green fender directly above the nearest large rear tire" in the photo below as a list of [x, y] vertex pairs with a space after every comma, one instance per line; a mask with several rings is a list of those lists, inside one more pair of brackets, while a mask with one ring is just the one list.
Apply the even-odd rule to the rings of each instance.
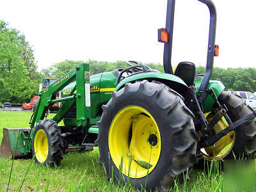
[[161, 72], [147, 72], [147, 73], [141, 73], [141, 74], [136, 74], [134, 76], [129, 76], [126, 77], [124, 80], [122, 80], [118, 85], [116, 86], [115, 92], [120, 90], [120, 88], [124, 87], [126, 83], [134, 83], [136, 81], [143, 81], [143, 80], [148, 80], [148, 81], [159, 81], [163, 84], [166, 84], [175, 92], [179, 93], [182, 95], [182, 97], [186, 96], [188, 93], [188, 86], [180, 77], [174, 76], [172, 74], [166, 74], [166, 73], [161, 73]]

